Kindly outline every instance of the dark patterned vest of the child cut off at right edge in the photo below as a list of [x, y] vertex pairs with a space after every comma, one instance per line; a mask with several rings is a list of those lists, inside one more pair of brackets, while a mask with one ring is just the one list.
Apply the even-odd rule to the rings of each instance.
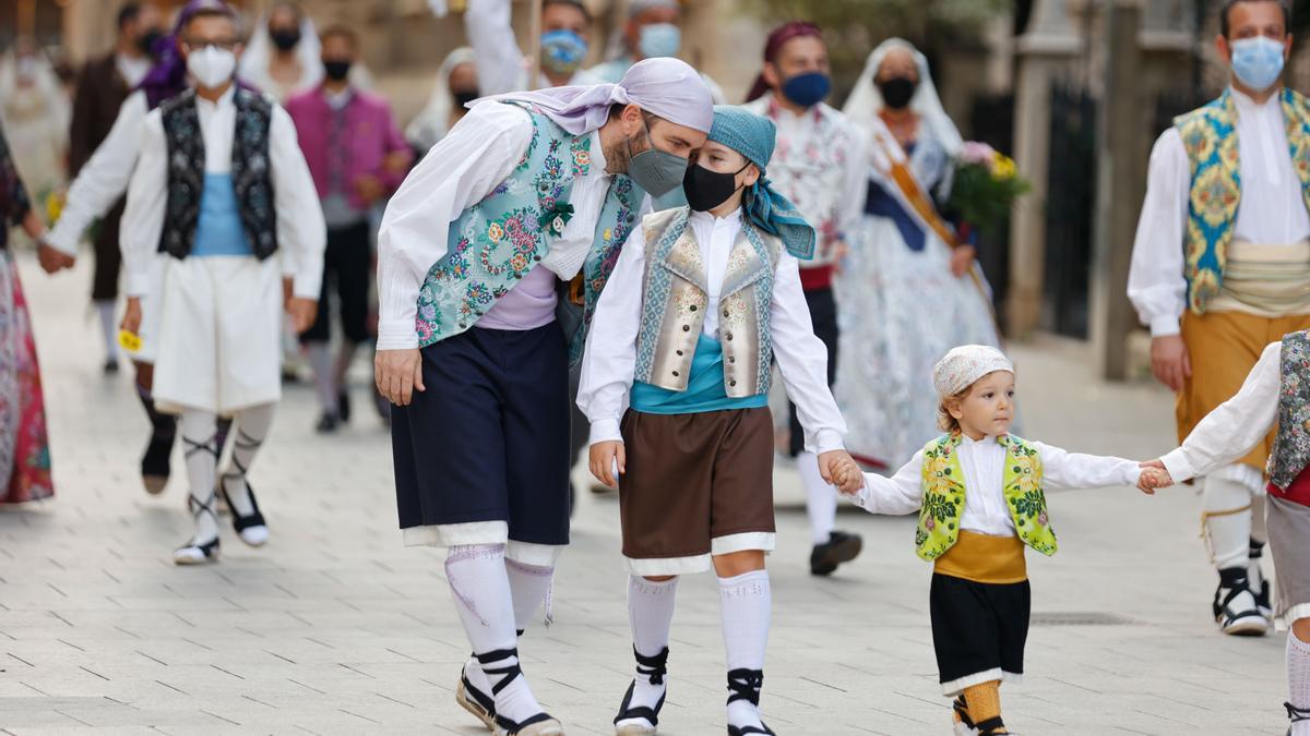
[[1282, 337], [1279, 433], [1269, 453], [1269, 482], [1288, 488], [1310, 465], [1310, 330]]

